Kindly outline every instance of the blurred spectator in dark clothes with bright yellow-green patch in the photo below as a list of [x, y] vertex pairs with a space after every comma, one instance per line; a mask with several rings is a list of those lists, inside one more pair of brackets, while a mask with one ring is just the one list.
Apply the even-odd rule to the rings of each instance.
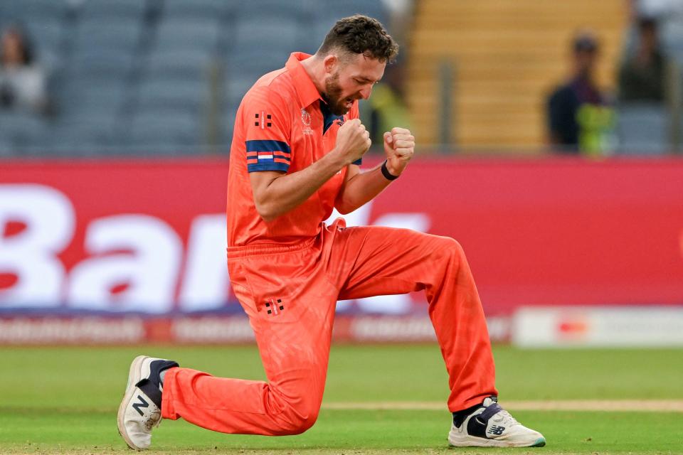
[[598, 41], [588, 31], [573, 40], [573, 73], [547, 103], [549, 139], [557, 151], [602, 154], [610, 149], [614, 112], [595, 85]]

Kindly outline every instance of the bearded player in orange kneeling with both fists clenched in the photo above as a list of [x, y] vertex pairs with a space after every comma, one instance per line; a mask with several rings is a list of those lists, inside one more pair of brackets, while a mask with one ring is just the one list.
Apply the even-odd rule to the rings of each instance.
[[322, 402], [337, 299], [418, 289], [450, 375], [450, 444], [545, 444], [497, 405], [482, 306], [455, 240], [322, 223], [333, 207], [349, 213], [377, 196], [413, 156], [411, 132], [396, 127], [384, 134], [386, 161], [359, 169], [370, 140], [357, 101], [397, 52], [375, 19], [343, 18], [315, 55], [293, 53], [245, 95], [228, 177], [228, 270], [268, 382], [139, 356], [119, 410], [129, 446], [149, 446], [162, 417], [225, 433], [305, 432]]

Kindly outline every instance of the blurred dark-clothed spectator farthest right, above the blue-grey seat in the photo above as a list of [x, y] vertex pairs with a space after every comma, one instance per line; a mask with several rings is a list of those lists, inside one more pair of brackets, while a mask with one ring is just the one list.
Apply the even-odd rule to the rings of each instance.
[[666, 61], [657, 40], [657, 23], [650, 18], [638, 21], [638, 42], [619, 70], [621, 101], [663, 101]]

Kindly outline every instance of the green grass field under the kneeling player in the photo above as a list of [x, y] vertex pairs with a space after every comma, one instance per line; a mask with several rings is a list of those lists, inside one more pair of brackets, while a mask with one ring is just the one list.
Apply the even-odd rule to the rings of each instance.
[[[0, 348], [0, 453], [128, 453], [116, 410], [130, 360], [173, 358], [214, 375], [263, 379], [252, 347]], [[514, 400], [683, 400], [683, 350], [494, 349], [503, 406]], [[445, 402], [436, 346], [335, 346], [317, 424], [295, 437], [218, 434], [179, 420], [152, 454], [683, 454], [683, 413], [514, 411], [536, 449], [448, 449], [450, 414], [372, 409]], [[371, 409], [362, 409], [363, 403]], [[351, 409], [337, 409], [351, 404]], [[429, 408], [429, 406], [428, 406]]]

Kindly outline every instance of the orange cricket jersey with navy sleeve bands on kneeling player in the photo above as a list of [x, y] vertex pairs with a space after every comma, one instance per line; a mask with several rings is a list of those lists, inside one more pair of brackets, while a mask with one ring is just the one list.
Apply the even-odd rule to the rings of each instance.
[[[317, 235], [334, 208], [346, 168], [294, 210], [266, 223], [256, 211], [250, 172], [293, 173], [334, 149], [337, 131], [358, 118], [358, 103], [337, 116], [327, 105], [300, 61], [292, 53], [285, 68], [268, 73], [244, 96], [235, 118], [228, 170], [228, 246], [291, 244]], [[360, 164], [360, 160], [354, 164]]]

